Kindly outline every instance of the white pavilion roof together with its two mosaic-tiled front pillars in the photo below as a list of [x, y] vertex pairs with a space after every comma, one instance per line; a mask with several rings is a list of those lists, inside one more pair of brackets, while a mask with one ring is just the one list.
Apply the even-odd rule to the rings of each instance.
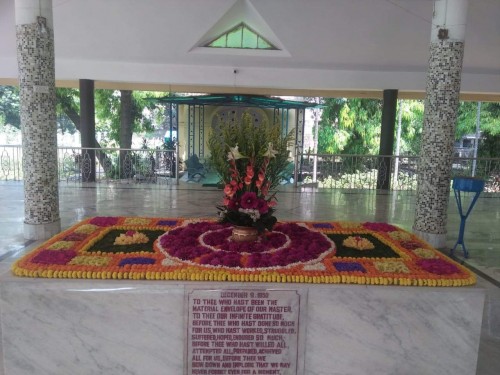
[[[214, 94], [392, 93], [388, 123], [398, 97], [425, 97], [413, 229], [436, 247], [446, 237], [460, 95], [499, 97], [500, 4], [490, 0], [2, 0], [0, 10], [0, 82], [20, 87], [25, 235], [32, 239], [61, 228], [56, 82]], [[242, 34], [235, 45], [240, 29], [265, 43], [247, 48]]]

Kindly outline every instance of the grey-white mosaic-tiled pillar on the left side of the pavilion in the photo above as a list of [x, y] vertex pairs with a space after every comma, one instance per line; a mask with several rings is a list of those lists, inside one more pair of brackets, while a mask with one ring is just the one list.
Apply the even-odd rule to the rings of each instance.
[[24, 236], [39, 240], [61, 229], [51, 0], [16, 0], [16, 40], [23, 138]]

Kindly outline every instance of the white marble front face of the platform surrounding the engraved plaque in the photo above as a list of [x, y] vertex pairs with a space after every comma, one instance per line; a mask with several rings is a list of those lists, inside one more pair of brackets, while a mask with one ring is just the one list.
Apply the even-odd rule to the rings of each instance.
[[[186, 291], [297, 290], [304, 374], [476, 373], [484, 290], [0, 277], [2, 375], [184, 373]], [[288, 374], [282, 372], [283, 375]]]

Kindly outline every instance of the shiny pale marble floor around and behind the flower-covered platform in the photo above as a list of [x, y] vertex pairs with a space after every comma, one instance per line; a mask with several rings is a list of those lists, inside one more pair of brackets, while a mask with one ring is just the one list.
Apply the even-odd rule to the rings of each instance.
[[[277, 195], [277, 216], [283, 220], [381, 221], [411, 231], [415, 211], [412, 192], [353, 190], [315, 191], [284, 187]], [[466, 198], [468, 199], [468, 197]], [[38, 242], [23, 238], [23, 187], [0, 183], [0, 271]], [[62, 227], [89, 216], [207, 217], [215, 215], [221, 191], [198, 184], [60, 185]], [[450, 196], [448, 241], [453, 247], [460, 224], [457, 206]], [[465, 232], [470, 259], [460, 261], [480, 275], [478, 287], [487, 290], [477, 374], [497, 374], [500, 369], [500, 196], [479, 198]]]

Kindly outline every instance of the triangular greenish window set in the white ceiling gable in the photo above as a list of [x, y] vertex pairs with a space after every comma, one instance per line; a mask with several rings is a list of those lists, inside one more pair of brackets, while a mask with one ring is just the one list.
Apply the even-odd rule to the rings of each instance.
[[205, 44], [205, 47], [264, 50], [278, 49], [243, 22], [208, 42]]

